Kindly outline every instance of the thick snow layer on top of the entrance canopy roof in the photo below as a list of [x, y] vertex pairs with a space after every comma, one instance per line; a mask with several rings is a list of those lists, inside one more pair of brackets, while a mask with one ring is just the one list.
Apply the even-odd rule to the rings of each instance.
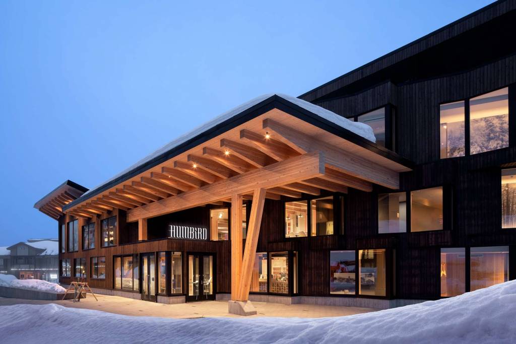
[[[143, 159], [139, 160], [138, 162], [136, 162], [134, 165], [128, 167], [127, 169], [123, 170], [122, 172], [118, 173], [117, 175], [115, 175], [114, 177], [111, 177], [109, 178], [107, 181], [105, 181], [104, 183], [90, 189], [89, 191], [86, 191], [83, 196], [86, 196], [88, 195], [89, 193], [92, 193], [94, 192], [95, 190], [99, 189], [100, 187], [102, 187], [103, 185], [105, 184], [108, 184], [112, 181], [114, 181], [115, 179], [123, 176], [124, 174], [136, 169], [137, 167], [139, 167], [140, 165], [143, 165], [144, 163], [147, 163], [148, 161], [158, 157], [159, 155], [162, 155], [172, 149], [174, 149], [175, 147], [179, 146], [180, 144], [196, 137], [197, 135], [199, 134], [202, 134], [204, 132], [206, 132], [206, 130], [209, 130], [213, 127], [215, 127], [216, 125], [226, 121], [226, 120], [229, 120], [230, 118], [236, 116], [237, 114], [253, 107], [254, 105], [256, 104], [259, 104], [260, 102], [263, 102], [264, 100], [270, 98], [271, 96], [273, 95], [277, 95], [281, 98], [283, 98], [284, 100], [286, 101], [289, 101], [291, 103], [294, 103], [300, 107], [302, 107], [303, 109], [305, 110], [308, 110], [314, 114], [316, 114], [317, 116], [327, 120], [327, 121], [330, 121], [338, 126], [341, 126], [342, 128], [344, 129], [347, 129], [347, 130], [350, 130], [350, 132], [353, 132], [369, 141], [372, 141], [372, 142], [376, 142], [376, 138], [375, 138], [375, 134], [373, 132], [373, 128], [370, 127], [369, 125], [365, 124], [365, 123], [359, 123], [359, 122], [352, 122], [350, 120], [348, 120], [347, 118], [344, 118], [338, 114], [336, 114], [335, 112], [332, 112], [330, 110], [327, 110], [325, 108], [322, 108], [318, 105], [314, 105], [312, 103], [309, 103], [307, 101], [303, 101], [299, 98], [296, 98], [296, 97], [293, 97], [291, 95], [287, 95], [287, 94], [282, 94], [282, 93], [269, 93], [269, 94], [263, 94], [259, 97], [256, 97], [254, 99], [251, 99], [250, 101], [248, 102], [245, 102], [243, 104], [240, 104], [236, 107], [234, 107], [233, 109], [229, 110], [229, 111], [226, 111], [222, 114], [220, 114], [219, 116], [217, 116], [216, 118], [214, 118], [213, 120], [211, 121], [208, 121], [200, 126], [198, 126], [197, 128], [191, 130], [190, 132], [176, 138], [175, 140], [173, 141], [170, 141], [169, 143], [167, 143], [166, 145], [164, 145], [162, 148], [158, 149], [157, 151], [153, 152], [152, 154], [149, 154], [148, 156], [144, 157]], [[80, 198], [79, 198], [80, 199]]]

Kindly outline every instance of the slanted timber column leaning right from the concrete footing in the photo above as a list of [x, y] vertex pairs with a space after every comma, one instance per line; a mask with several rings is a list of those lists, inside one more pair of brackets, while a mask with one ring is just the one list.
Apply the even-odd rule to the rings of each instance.
[[260, 234], [260, 225], [262, 223], [265, 192], [265, 189], [255, 189], [253, 193], [251, 216], [249, 218], [247, 229], [246, 248], [241, 267], [238, 301], [247, 301], [249, 299], [249, 288], [251, 286], [254, 258], [256, 257], [256, 247], [258, 245], [258, 236]]

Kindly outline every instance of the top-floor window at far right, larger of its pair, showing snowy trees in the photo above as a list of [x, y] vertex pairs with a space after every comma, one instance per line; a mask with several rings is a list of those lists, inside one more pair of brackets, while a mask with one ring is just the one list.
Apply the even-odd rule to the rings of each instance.
[[508, 88], [470, 99], [470, 152], [492, 151], [509, 146]]

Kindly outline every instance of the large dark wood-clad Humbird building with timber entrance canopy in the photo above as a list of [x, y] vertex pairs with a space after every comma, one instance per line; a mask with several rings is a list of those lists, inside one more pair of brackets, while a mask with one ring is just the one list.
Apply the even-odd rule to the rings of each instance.
[[93, 190], [63, 184], [35, 205], [59, 222], [60, 282], [386, 308], [514, 279], [515, 23], [498, 1]]

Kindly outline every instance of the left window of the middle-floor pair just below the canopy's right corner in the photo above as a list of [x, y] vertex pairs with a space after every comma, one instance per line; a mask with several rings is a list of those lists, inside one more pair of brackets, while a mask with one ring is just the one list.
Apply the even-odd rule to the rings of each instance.
[[378, 195], [378, 233], [407, 232], [407, 193]]

